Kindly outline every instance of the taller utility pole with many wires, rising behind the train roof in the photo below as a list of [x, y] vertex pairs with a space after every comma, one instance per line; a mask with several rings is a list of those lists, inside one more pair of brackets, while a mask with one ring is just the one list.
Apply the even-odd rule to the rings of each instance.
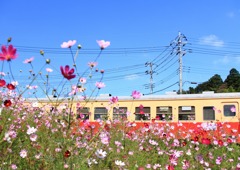
[[185, 35], [178, 33], [177, 37], [177, 55], [179, 58], [179, 93], [182, 94], [182, 57], [186, 54], [186, 51], [182, 49], [183, 46], [187, 44], [187, 38]]

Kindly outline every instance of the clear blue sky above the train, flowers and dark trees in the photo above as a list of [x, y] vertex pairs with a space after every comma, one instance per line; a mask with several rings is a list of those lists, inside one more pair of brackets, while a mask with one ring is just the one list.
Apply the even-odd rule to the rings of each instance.
[[[17, 59], [10, 62], [13, 77], [6, 76], [7, 81], [18, 81], [19, 87], [24, 88], [32, 80], [29, 71], [38, 73], [45, 59], [51, 60], [41, 70], [42, 76], [31, 84], [39, 86], [39, 95], [46, 92], [46, 68], [53, 69], [47, 91], [55, 88], [59, 92], [62, 88], [61, 92], [68, 94], [69, 87], [77, 83], [76, 79], [63, 81], [59, 69], [73, 65], [70, 49], [60, 46], [68, 40], [77, 41], [71, 48], [73, 54], [77, 45], [82, 47], [76, 64], [79, 75], [87, 78], [86, 95], [129, 96], [133, 90], [158, 95], [178, 91], [179, 33], [184, 37], [184, 90], [196, 87], [191, 82], [202, 83], [214, 74], [225, 80], [230, 69], [240, 71], [239, 0], [2, 0], [0, 18], [0, 44], [6, 45], [12, 37], [11, 44], [18, 53]], [[100, 52], [96, 40], [110, 41], [111, 45], [101, 52], [91, 72], [88, 63], [95, 61]], [[45, 58], [40, 50], [44, 50]], [[31, 57], [33, 68], [23, 63]], [[10, 67], [4, 64], [3, 72], [9, 73]], [[95, 69], [104, 70], [104, 74]], [[96, 90], [97, 81], [106, 86]]]

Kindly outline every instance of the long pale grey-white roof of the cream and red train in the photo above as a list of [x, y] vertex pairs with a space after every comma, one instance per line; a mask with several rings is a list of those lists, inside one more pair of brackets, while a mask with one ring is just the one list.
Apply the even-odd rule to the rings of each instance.
[[[92, 97], [89, 101], [109, 101], [111, 99], [111, 95], [102, 94], [97, 97]], [[119, 101], [128, 101], [133, 100], [132, 96], [117, 96]], [[75, 96], [74, 101], [81, 100], [82, 97]], [[134, 100], [184, 100], [184, 99], [231, 99], [231, 98], [239, 98], [240, 93], [214, 93], [214, 92], [203, 92], [201, 94], [176, 94], [176, 93], [167, 93], [163, 95], [142, 95], [139, 99]], [[48, 102], [57, 100], [65, 100], [71, 98], [27, 98], [26, 101], [29, 102]]]

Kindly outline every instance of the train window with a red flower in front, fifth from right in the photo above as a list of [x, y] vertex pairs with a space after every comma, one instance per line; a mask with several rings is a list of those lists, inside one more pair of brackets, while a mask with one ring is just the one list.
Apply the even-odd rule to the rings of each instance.
[[135, 120], [150, 120], [150, 107], [143, 107], [140, 105], [135, 108]]

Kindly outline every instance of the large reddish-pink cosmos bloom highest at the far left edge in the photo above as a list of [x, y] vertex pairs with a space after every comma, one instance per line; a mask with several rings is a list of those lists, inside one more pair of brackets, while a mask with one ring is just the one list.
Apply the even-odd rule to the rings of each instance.
[[2, 53], [0, 53], [0, 60], [4, 61], [11, 61], [12, 59], [17, 58], [17, 49], [14, 48], [12, 45], [6, 47], [5, 45], [2, 46]]

